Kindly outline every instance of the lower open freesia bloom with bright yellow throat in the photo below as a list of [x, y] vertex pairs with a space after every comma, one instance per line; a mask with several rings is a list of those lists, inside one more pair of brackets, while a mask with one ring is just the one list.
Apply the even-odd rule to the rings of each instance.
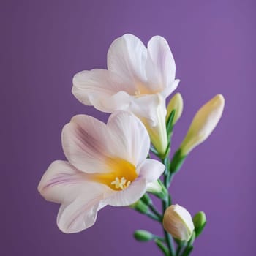
[[128, 206], [146, 192], [165, 170], [146, 159], [150, 139], [131, 113], [113, 113], [104, 124], [78, 115], [62, 131], [67, 161], [53, 162], [38, 190], [46, 200], [61, 203], [57, 224], [64, 233], [85, 230], [106, 205]]

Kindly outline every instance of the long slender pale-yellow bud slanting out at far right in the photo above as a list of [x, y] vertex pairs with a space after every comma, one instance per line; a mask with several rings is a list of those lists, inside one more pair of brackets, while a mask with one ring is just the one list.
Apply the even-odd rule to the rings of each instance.
[[217, 94], [197, 111], [180, 146], [183, 156], [189, 154], [193, 148], [211, 135], [222, 116], [224, 105], [224, 97], [222, 94]]

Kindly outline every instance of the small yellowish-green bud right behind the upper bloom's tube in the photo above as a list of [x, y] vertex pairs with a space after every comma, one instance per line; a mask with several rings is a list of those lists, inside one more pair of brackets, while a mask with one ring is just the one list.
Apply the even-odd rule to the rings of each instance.
[[167, 105], [167, 115], [166, 121], [168, 120], [170, 113], [175, 110], [175, 114], [173, 117], [173, 124], [176, 124], [176, 121], [181, 117], [181, 113], [183, 111], [183, 99], [181, 94], [178, 92], [176, 93], [171, 99], [169, 104]]

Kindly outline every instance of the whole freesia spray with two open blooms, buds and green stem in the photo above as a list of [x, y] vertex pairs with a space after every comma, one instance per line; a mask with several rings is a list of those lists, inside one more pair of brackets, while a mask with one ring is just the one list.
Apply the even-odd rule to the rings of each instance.
[[[67, 161], [53, 162], [38, 186], [46, 200], [61, 204], [60, 230], [76, 233], [91, 227], [97, 211], [107, 205], [131, 206], [165, 228], [165, 238], [138, 230], [138, 241], [154, 240], [165, 255], [189, 254], [195, 236], [206, 224], [205, 215], [200, 212], [192, 219], [184, 207], [172, 204], [167, 189], [189, 152], [217, 126], [224, 98], [217, 94], [198, 110], [170, 160], [170, 138], [181, 117], [183, 99], [176, 93], [167, 108], [165, 99], [178, 83], [167, 41], [152, 37], [146, 48], [132, 34], [124, 34], [110, 45], [108, 69], [74, 76], [75, 97], [111, 115], [107, 124], [87, 115], [74, 116], [62, 130]], [[151, 159], [152, 153], [158, 160]], [[162, 200], [162, 214], [148, 192]], [[204, 221], [200, 221], [202, 216]]]

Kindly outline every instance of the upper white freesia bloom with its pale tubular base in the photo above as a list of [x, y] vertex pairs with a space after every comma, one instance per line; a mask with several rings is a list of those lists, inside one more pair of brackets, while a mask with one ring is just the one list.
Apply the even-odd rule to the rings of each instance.
[[108, 50], [108, 70], [82, 71], [73, 78], [72, 93], [85, 105], [103, 112], [127, 110], [148, 129], [159, 154], [167, 149], [165, 98], [178, 86], [176, 65], [163, 37], [148, 48], [132, 34], [116, 39]]

